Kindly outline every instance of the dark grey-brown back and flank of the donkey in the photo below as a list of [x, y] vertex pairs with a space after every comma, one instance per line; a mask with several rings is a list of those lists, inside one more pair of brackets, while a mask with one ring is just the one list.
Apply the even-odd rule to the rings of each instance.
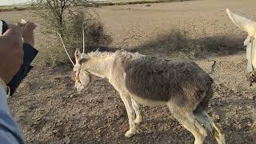
[[122, 59], [119, 70], [125, 74], [126, 89], [135, 97], [154, 102], [173, 101], [178, 106], [195, 108], [211, 89], [212, 78], [194, 62], [116, 53]]

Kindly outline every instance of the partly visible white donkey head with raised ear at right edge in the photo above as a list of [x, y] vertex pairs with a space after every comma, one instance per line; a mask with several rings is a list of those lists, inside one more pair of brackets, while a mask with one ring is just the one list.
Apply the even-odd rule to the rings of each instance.
[[[232, 13], [230, 10], [226, 9], [226, 13], [229, 15], [230, 19], [236, 26], [245, 30], [248, 34], [244, 45], [246, 47], [246, 59], [247, 59], [247, 74], [251, 76], [255, 75], [256, 70], [256, 22], [251, 21], [248, 18], [239, 16], [238, 14]], [[247, 77], [248, 78], [248, 77]], [[251, 78], [249, 78], [250, 80]], [[254, 78], [253, 78], [254, 79]]]

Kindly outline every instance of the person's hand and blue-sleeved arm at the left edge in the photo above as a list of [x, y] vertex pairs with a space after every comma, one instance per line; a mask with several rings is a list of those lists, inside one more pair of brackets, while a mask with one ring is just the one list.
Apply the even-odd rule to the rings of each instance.
[[6, 99], [6, 83], [14, 77], [23, 62], [22, 35], [20, 28], [8, 25], [0, 36], [0, 143], [25, 143], [17, 122], [10, 115]]

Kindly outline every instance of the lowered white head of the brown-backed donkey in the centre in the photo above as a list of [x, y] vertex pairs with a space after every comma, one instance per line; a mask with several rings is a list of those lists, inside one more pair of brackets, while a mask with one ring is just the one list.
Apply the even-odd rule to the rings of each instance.
[[77, 49], [74, 52], [74, 57], [74, 72], [76, 73], [74, 87], [78, 90], [78, 93], [80, 93], [90, 82], [90, 72], [82, 69], [82, 62], [86, 62], [89, 56], [87, 54], [81, 53], [80, 50]]

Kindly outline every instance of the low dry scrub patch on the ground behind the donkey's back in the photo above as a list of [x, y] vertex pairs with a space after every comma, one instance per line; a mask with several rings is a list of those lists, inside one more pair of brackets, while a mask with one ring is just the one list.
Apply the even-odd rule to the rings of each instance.
[[153, 41], [134, 48], [143, 54], [158, 54], [171, 58], [206, 58], [210, 55], [235, 54], [244, 50], [243, 40], [220, 35], [193, 39], [186, 31], [171, 30]]

